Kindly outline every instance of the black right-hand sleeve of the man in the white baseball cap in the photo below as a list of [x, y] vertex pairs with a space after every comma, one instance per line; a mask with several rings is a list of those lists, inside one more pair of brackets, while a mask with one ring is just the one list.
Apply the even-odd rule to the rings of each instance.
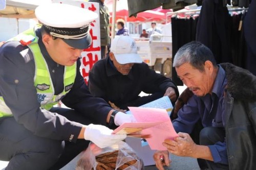
[[163, 92], [165, 93], [168, 87], [173, 87], [175, 89], [176, 95], [179, 96], [178, 87], [170, 80], [163, 75], [156, 73], [155, 70], [150, 69], [147, 64], [143, 63], [143, 72], [144, 76], [144, 84], [143, 84], [143, 92], [145, 93], [155, 93], [155, 92]]

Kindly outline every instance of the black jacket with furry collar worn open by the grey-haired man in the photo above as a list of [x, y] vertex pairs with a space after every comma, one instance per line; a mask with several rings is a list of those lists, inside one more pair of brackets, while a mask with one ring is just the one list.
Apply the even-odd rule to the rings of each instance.
[[[256, 77], [230, 63], [221, 66], [227, 78], [224, 109], [229, 169], [252, 170], [256, 165]], [[185, 90], [174, 112], [177, 113], [191, 96], [193, 94]]]

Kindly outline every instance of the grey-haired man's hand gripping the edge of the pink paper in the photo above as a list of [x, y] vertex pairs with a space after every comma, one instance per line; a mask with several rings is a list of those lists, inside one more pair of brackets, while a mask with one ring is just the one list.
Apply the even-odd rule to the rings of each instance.
[[187, 133], [178, 133], [179, 137], [174, 140], [165, 139], [163, 142], [167, 150], [178, 156], [193, 157], [196, 151], [197, 144], [191, 139]]

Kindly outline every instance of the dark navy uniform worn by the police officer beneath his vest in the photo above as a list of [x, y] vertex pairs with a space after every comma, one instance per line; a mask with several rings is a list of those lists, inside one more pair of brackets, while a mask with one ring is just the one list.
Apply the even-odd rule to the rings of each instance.
[[[64, 66], [49, 56], [41, 41], [40, 29], [36, 35], [57, 95], [63, 91]], [[80, 75], [78, 60], [73, 87], [61, 100], [71, 109], [41, 110], [34, 86], [33, 60], [32, 52], [18, 41], [7, 42], [0, 48], [0, 96], [13, 114], [0, 118], [0, 160], [10, 160], [8, 169], [27, 161], [30, 166], [19, 169], [47, 169], [54, 162], [50, 169], [59, 169], [88, 147], [89, 141], [77, 139], [82, 125], [105, 125], [112, 108], [90, 94]]]

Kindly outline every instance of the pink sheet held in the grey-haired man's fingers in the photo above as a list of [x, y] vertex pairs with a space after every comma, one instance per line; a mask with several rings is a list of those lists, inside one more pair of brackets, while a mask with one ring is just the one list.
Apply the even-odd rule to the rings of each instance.
[[152, 150], [166, 150], [162, 142], [165, 139], [173, 139], [178, 136], [165, 109], [141, 107], [129, 107], [129, 109], [139, 123], [162, 122], [159, 125], [142, 130], [142, 134], [151, 134], [152, 137], [146, 140]]

